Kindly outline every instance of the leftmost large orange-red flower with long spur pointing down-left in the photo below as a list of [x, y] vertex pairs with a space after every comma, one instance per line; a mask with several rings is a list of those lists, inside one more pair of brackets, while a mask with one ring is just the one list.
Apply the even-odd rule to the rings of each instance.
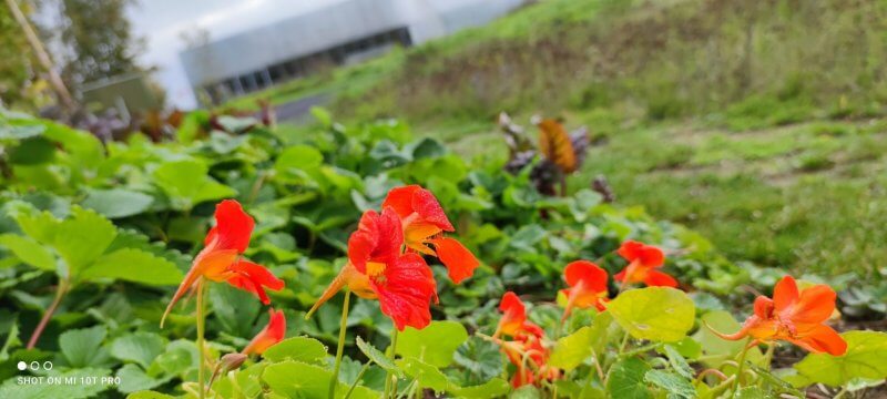
[[211, 228], [204, 239], [204, 248], [194, 258], [191, 270], [176, 289], [173, 299], [163, 313], [161, 326], [173, 306], [201, 278], [216, 283], [226, 282], [234, 287], [253, 293], [263, 304], [271, 299], [265, 288], [281, 290], [284, 282], [274, 277], [263, 266], [241, 258], [249, 246], [249, 235], [255, 222], [247, 215], [241, 204], [234, 200], [225, 200], [215, 207], [215, 227]]

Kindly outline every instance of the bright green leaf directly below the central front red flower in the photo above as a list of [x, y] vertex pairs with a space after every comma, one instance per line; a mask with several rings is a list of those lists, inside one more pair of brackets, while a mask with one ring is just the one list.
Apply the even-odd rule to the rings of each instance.
[[452, 354], [468, 339], [468, 331], [456, 321], [431, 321], [417, 330], [407, 327], [397, 337], [397, 352], [402, 357], [415, 357], [435, 367], [447, 367]]

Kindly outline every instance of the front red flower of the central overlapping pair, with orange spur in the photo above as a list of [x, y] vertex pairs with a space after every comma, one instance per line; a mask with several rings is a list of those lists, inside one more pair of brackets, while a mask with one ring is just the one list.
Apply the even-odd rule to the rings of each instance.
[[345, 286], [357, 296], [378, 299], [381, 311], [399, 330], [431, 323], [430, 301], [437, 294], [431, 268], [421, 256], [402, 254], [404, 231], [394, 209], [367, 211], [348, 239], [348, 264], [314, 304], [308, 315]]

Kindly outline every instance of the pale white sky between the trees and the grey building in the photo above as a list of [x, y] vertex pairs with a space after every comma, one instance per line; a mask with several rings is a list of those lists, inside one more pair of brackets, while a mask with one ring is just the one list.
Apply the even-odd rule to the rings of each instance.
[[196, 106], [179, 62], [181, 33], [205, 29], [210, 40], [275, 22], [343, 0], [141, 0], [130, 10], [133, 33], [144, 38], [143, 65], [157, 68], [154, 79], [167, 91], [170, 105]]

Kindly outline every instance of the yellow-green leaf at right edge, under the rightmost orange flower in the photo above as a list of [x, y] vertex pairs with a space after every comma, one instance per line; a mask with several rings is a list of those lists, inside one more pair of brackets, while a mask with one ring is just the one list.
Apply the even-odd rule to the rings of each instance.
[[840, 387], [855, 379], [887, 378], [887, 332], [846, 331], [847, 352], [842, 356], [809, 354], [795, 365], [814, 382]]

